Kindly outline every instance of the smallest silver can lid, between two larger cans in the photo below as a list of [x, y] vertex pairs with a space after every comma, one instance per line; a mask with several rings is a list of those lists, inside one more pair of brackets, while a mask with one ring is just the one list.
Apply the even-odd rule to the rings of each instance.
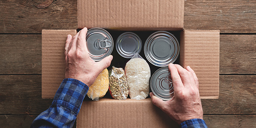
[[124, 58], [132, 58], [141, 49], [142, 41], [134, 32], [124, 32], [116, 40], [116, 51]]

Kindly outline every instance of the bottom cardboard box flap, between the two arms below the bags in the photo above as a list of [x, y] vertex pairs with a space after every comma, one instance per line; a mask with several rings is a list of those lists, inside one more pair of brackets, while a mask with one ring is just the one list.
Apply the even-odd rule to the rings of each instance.
[[84, 101], [77, 128], [177, 128], [177, 123], [154, 106], [151, 98]]

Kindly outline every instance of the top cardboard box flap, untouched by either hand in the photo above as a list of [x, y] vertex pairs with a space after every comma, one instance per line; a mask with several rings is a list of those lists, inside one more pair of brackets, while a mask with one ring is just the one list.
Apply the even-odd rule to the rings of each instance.
[[184, 0], [78, 0], [78, 28], [181, 30]]

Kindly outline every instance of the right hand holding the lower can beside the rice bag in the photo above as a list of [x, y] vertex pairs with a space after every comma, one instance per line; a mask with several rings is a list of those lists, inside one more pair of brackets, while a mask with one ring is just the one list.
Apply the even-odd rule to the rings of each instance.
[[174, 96], [169, 101], [150, 93], [152, 102], [171, 119], [180, 124], [188, 119], [203, 119], [203, 109], [198, 90], [198, 78], [189, 66], [184, 69], [178, 64], [169, 64]]

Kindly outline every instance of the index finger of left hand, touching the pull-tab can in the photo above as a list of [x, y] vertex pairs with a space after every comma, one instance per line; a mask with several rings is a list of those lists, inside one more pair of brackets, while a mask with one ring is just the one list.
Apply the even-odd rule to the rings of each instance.
[[86, 33], [87, 33], [87, 28], [81, 29], [81, 31], [79, 32], [78, 38], [77, 38], [76, 47], [78, 49], [80, 49], [81, 51], [87, 50]]

